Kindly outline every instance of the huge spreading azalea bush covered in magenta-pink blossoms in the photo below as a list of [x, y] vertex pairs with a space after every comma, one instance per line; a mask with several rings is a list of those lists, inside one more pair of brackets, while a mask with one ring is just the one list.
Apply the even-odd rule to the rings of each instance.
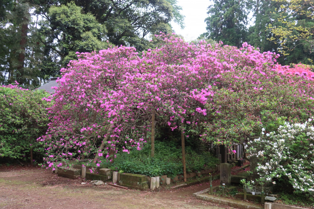
[[312, 114], [311, 77], [286, 73], [272, 52], [157, 38], [160, 46], [142, 56], [133, 47], [112, 47], [78, 53], [61, 70], [60, 87], [46, 98], [53, 98], [49, 128], [38, 138], [49, 167], [141, 149], [154, 110], [159, 124], [223, 144]]

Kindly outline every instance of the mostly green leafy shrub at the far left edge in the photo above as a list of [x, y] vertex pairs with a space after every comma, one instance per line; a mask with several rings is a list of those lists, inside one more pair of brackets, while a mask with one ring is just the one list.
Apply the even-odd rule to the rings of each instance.
[[49, 94], [18, 85], [0, 86], [0, 158], [41, 160], [45, 154], [36, 139], [45, 134]]

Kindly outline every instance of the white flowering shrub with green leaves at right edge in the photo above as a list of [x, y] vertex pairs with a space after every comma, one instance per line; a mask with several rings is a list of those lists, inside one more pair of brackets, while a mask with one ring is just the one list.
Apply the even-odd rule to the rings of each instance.
[[291, 184], [296, 193], [314, 194], [313, 120], [304, 124], [285, 122], [276, 132], [264, 131], [263, 128], [262, 136], [246, 145], [246, 152], [258, 158], [259, 181], [281, 179]]

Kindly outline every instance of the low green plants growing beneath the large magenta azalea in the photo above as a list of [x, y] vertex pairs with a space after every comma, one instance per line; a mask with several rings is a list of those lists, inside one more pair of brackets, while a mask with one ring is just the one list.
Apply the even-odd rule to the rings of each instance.
[[[150, 145], [145, 144], [141, 150], [133, 148], [130, 153], [117, 154], [113, 163], [103, 163], [100, 166], [118, 172], [144, 174], [151, 177], [167, 175], [175, 177], [183, 173], [181, 147], [173, 142], [155, 142], [155, 156], [150, 157]], [[187, 172], [198, 172], [215, 168], [218, 159], [209, 152], [196, 152], [186, 147]], [[82, 164], [82, 163], [81, 163]]]

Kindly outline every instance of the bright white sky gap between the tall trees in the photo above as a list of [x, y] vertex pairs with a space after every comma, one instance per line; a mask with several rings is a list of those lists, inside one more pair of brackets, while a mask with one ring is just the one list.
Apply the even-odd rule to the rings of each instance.
[[178, 24], [171, 22], [172, 29], [176, 34], [182, 35], [185, 41], [198, 38], [206, 32], [205, 18], [208, 17], [207, 8], [212, 4], [209, 0], [177, 0], [182, 7], [181, 14], [185, 15], [185, 28], [182, 30]]

